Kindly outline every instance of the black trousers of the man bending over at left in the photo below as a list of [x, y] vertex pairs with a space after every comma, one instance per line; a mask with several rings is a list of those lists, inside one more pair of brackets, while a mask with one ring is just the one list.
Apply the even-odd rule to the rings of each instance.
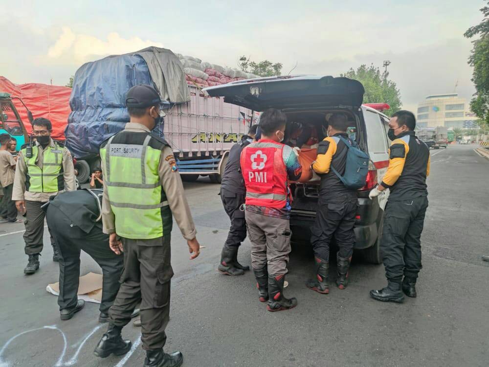
[[123, 269], [123, 256], [115, 254], [109, 247], [109, 235], [98, 226], [86, 233], [76, 226], [61, 210], [48, 206], [47, 225], [59, 247], [60, 310], [72, 308], [78, 300], [80, 277], [80, 250], [87, 252], [102, 268], [102, 299], [100, 312], [107, 313], [119, 290], [119, 278]]

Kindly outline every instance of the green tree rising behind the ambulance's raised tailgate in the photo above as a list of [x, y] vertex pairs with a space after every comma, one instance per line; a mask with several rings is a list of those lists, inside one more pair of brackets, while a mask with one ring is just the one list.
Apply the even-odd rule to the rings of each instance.
[[374, 64], [367, 67], [363, 64], [358, 69], [350, 69], [341, 74], [347, 78], [358, 80], [365, 88], [363, 95], [364, 103], [385, 102], [390, 106], [389, 110], [384, 111], [386, 115], [392, 115], [400, 110], [400, 93], [394, 81], [390, 80], [387, 71], [381, 72]]

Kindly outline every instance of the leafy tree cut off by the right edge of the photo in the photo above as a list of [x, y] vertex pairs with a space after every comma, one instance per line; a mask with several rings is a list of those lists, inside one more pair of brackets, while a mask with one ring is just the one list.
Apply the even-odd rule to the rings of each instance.
[[480, 36], [478, 40], [472, 41], [473, 48], [468, 58], [468, 64], [474, 68], [472, 81], [476, 90], [470, 101], [470, 109], [485, 125], [489, 125], [489, 1], [488, 6], [480, 10], [484, 20], [468, 28], [464, 36]]

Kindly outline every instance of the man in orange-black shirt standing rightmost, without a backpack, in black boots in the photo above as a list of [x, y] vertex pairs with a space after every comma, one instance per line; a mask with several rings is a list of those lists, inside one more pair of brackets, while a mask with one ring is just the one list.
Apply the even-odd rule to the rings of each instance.
[[373, 199], [390, 189], [380, 246], [388, 285], [370, 291], [370, 296], [380, 301], [402, 302], [402, 293], [416, 297], [416, 279], [422, 268], [420, 238], [428, 207], [426, 177], [430, 155], [426, 144], [416, 137], [415, 128], [416, 119], [411, 112], [392, 115], [389, 167], [382, 183], [369, 195]]

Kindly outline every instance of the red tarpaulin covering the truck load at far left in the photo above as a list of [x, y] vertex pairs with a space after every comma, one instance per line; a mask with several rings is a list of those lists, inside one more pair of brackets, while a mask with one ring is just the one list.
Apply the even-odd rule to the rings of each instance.
[[[0, 76], [0, 92], [22, 98], [34, 118], [44, 117], [51, 121], [54, 139], [65, 139], [65, 128], [71, 112], [69, 108], [71, 88], [40, 83], [14, 84], [4, 76]], [[13, 102], [21, 115], [25, 129], [30, 134], [32, 126], [27, 118], [27, 111], [18, 99], [14, 99]]]

